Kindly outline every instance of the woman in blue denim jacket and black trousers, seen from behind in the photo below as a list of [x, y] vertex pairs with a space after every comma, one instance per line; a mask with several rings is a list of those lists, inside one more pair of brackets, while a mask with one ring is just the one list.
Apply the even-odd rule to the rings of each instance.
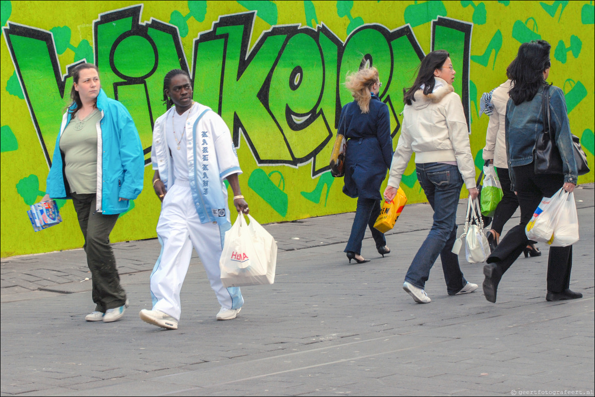
[[[511, 267], [527, 246], [525, 226], [543, 197], [551, 197], [560, 187], [572, 192], [577, 185], [577, 164], [572, 152], [572, 137], [566, 112], [564, 93], [552, 86], [550, 95], [550, 126], [562, 157], [562, 174], [535, 174], [533, 152], [537, 137], [543, 133], [542, 99], [550, 73], [550, 48], [544, 40], [521, 45], [510, 66], [513, 87], [506, 108], [506, 153], [511, 189], [521, 207], [521, 222], [513, 227], [487, 259], [484, 295], [496, 302], [497, 287], [502, 275]], [[551, 247], [547, 261], [547, 301], [582, 298], [569, 289], [572, 267], [572, 246]]]

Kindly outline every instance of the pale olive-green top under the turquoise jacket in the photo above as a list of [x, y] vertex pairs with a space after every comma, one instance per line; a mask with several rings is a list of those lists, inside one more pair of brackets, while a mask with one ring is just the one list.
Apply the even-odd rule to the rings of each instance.
[[97, 192], [97, 127], [101, 112], [92, 111], [84, 120], [73, 115], [60, 137], [64, 171], [73, 193]]

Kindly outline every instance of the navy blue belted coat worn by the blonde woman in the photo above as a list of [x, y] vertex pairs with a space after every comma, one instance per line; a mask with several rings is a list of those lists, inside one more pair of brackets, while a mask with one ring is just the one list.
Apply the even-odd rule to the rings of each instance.
[[380, 185], [393, 160], [389, 107], [375, 95], [368, 113], [362, 113], [355, 100], [349, 102], [341, 110], [337, 134], [348, 139], [343, 193], [381, 200]]

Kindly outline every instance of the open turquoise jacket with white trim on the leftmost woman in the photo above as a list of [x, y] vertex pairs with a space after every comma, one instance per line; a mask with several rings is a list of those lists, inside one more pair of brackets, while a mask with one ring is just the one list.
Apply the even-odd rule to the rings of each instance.
[[[75, 105], [73, 105], [75, 106]], [[72, 108], [72, 107], [71, 107]], [[97, 97], [101, 120], [97, 129], [97, 212], [121, 214], [129, 208], [143, 189], [145, 155], [134, 121], [124, 105], [108, 98], [103, 89]], [[46, 193], [53, 199], [69, 199], [65, 183], [60, 138], [70, 122], [71, 112], [62, 116], [60, 134], [56, 140], [52, 166], [46, 180]], [[120, 198], [127, 200], [119, 201]]]

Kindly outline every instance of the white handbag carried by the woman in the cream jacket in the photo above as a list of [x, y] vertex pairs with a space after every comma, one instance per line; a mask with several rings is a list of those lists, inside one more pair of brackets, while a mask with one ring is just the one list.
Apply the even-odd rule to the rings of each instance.
[[464, 232], [452, 247], [452, 252], [458, 255], [465, 239], [465, 257], [469, 263], [482, 263], [490, 256], [490, 245], [483, 232], [483, 220], [480, 214], [479, 200], [469, 198]]

